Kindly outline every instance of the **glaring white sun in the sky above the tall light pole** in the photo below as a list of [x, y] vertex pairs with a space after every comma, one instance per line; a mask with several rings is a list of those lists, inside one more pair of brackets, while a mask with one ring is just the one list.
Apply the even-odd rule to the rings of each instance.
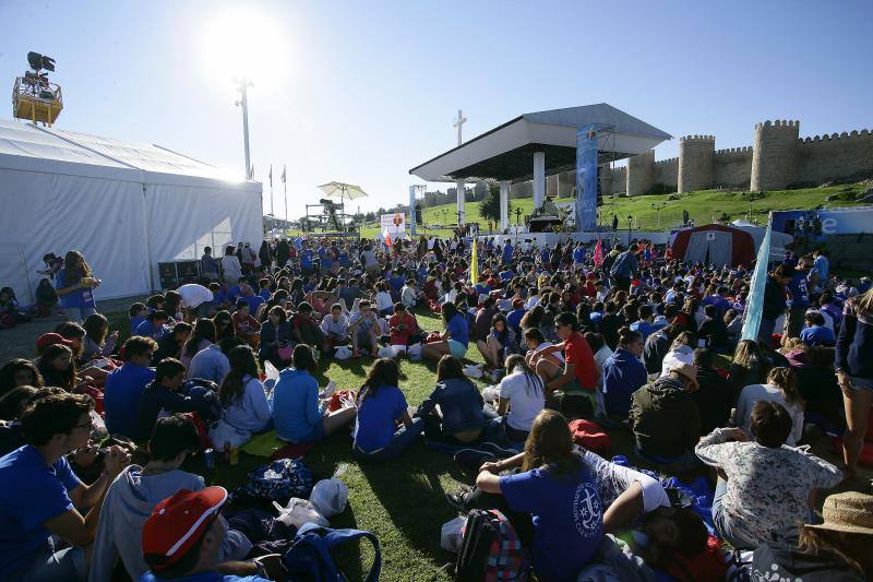
[[237, 7], [206, 23], [203, 56], [216, 82], [246, 78], [259, 86], [270, 86], [287, 67], [288, 47], [284, 40], [266, 14]]

